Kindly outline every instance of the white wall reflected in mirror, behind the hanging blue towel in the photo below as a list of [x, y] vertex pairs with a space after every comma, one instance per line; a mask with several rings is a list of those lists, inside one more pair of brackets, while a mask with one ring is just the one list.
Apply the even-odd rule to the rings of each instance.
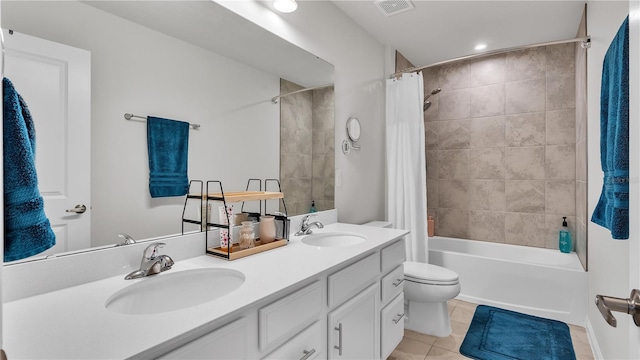
[[189, 133], [190, 179], [230, 191], [278, 178], [279, 77], [81, 3], [2, 6], [3, 27], [91, 51], [93, 246], [181, 231], [184, 197], [149, 196], [146, 126], [124, 113], [201, 124]]

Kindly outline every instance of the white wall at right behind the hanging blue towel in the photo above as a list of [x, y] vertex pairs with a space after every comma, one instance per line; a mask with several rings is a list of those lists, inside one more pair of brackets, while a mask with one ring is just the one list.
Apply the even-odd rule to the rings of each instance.
[[[591, 35], [591, 49], [587, 54], [588, 84], [588, 216], [600, 198], [602, 169], [600, 167], [600, 82], [604, 55], [622, 21], [628, 14], [627, 1], [589, 1], [587, 5], [587, 33]], [[629, 295], [629, 243], [613, 240], [609, 230], [592, 222], [588, 225], [589, 239], [589, 323], [591, 336], [605, 359], [627, 358], [627, 329], [631, 317], [616, 313], [618, 327], [609, 326], [593, 303], [596, 294], [626, 298]], [[592, 340], [594, 338], [592, 337]], [[597, 350], [597, 349], [596, 349]]]

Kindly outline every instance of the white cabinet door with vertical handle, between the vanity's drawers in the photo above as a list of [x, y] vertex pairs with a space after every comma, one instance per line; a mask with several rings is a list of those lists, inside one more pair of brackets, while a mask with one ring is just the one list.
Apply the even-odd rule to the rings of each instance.
[[378, 357], [378, 284], [371, 285], [329, 313], [329, 359]]

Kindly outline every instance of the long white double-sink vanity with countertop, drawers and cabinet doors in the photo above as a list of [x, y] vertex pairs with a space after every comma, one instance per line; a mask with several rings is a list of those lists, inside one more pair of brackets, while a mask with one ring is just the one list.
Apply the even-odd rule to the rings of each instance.
[[[402, 339], [407, 231], [334, 223], [349, 246], [287, 246], [235, 261], [197, 256], [159, 275], [122, 274], [5, 303], [10, 359], [376, 359]], [[163, 249], [164, 250], [164, 249]], [[171, 246], [166, 251], [171, 255]], [[105, 307], [134, 282], [194, 269], [244, 275], [237, 289], [180, 310], [123, 314]], [[203, 284], [206, 286], [206, 284]], [[166, 289], [171, 292], [171, 288]]]

